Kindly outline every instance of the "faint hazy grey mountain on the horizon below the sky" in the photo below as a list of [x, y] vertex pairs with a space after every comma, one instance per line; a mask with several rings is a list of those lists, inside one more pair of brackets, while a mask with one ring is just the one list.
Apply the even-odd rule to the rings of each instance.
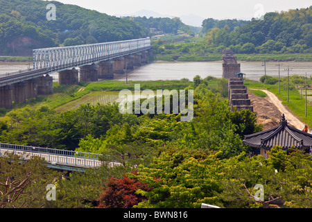
[[181, 15], [181, 16], [175, 16], [175, 15], [165, 15], [160, 14], [158, 12], [152, 11], [152, 10], [139, 10], [137, 12], [132, 12], [128, 14], [117, 14], [116, 17], [153, 17], [153, 18], [169, 18], [173, 19], [174, 17], [179, 17], [181, 21], [188, 25], [188, 26], [195, 26], [195, 27], [201, 27], [202, 21], [204, 20], [202, 17], [198, 17], [196, 15]]

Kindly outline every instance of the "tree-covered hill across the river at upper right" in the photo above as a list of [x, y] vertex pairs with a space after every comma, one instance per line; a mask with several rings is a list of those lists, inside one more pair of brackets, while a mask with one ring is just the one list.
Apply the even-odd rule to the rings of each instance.
[[312, 53], [312, 6], [268, 12], [263, 19], [252, 19], [234, 29], [213, 22], [203, 22], [207, 45], [212, 48], [229, 48], [236, 53]]

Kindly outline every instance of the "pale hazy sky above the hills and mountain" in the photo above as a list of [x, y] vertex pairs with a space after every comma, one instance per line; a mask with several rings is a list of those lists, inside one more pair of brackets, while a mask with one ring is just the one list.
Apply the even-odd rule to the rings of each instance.
[[83, 8], [121, 15], [139, 10], [153, 10], [160, 14], [197, 15], [204, 19], [251, 19], [266, 12], [306, 8], [311, 0], [57, 0]]

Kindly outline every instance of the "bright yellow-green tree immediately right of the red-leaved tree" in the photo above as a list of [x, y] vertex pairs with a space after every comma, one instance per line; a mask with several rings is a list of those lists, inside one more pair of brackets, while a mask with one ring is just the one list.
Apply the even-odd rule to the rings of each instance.
[[162, 151], [150, 167], [139, 166], [137, 176], [130, 177], [153, 187], [137, 191], [148, 198], [137, 207], [193, 208], [219, 203], [215, 196], [220, 191], [219, 162], [215, 153], [205, 150], [173, 147]]

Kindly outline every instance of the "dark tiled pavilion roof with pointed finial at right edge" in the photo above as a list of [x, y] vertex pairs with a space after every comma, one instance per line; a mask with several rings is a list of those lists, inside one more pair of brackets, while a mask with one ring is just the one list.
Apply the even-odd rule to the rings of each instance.
[[312, 146], [312, 135], [288, 126], [287, 119], [283, 114], [279, 126], [259, 133], [245, 135], [243, 144], [254, 148], [269, 149], [273, 146], [281, 146], [284, 149], [292, 147], [302, 149]]

